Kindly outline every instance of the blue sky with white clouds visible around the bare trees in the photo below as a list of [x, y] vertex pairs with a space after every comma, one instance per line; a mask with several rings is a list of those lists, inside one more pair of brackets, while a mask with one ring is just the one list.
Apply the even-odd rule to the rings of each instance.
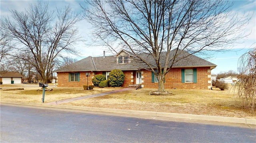
[[[36, 3], [36, 0], [0, 0], [0, 17], [10, 16], [9, 10], [24, 10], [28, 8], [29, 4]], [[52, 8], [61, 8], [67, 4], [70, 4], [72, 9], [76, 12], [80, 12], [81, 8], [79, 3], [84, 4], [83, 0], [50, 0], [49, 6]], [[226, 72], [229, 70], [237, 71], [238, 59], [248, 51], [249, 48], [256, 48], [256, 1], [255, 0], [235, 0], [232, 12], [239, 15], [253, 14], [250, 23], [246, 26], [245, 33], [250, 34], [246, 39], [240, 41], [240, 44], [236, 44], [231, 50], [225, 53], [216, 53], [210, 59], [206, 59], [217, 65], [212, 73], [218, 74], [219, 72]], [[78, 23], [80, 34], [89, 42], [90, 41], [90, 24], [85, 20]], [[107, 49], [103, 47], [88, 47], [85, 43], [79, 43], [78, 48], [80, 49], [81, 57], [78, 60], [88, 56], [102, 56], [103, 51]], [[93, 50], [92, 50], [93, 49]], [[106, 53], [106, 55], [112, 55], [112, 53]]]

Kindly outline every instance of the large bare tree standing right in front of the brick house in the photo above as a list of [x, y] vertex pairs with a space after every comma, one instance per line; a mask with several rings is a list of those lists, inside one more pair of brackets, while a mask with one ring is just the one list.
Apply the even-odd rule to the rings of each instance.
[[141, 68], [154, 72], [158, 92], [164, 92], [164, 77], [174, 63], [191, 54], [232, 46], [244, 37], [250, 19], [232, 15], [229, 2], [218, 0], [88, 0], [86, 4], [80, 5], [94, 27], [94, 43], [132, 52], [147, 65]]

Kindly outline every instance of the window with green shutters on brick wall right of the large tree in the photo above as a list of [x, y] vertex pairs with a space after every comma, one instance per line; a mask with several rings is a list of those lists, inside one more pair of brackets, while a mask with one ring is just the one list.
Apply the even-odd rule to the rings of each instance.
[[182, 83], [196, 83], [197, 82], [196, 69], [181, 69]]

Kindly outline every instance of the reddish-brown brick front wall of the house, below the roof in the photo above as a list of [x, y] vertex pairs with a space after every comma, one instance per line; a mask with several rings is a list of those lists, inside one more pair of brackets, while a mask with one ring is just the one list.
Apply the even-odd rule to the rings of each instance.
[[[197, 83], [182, 83], [181, 82], [181, 69], [174, 68], [166, 74], [164, 87], [166, 89], [208, 89], [208, 86], [211, 84], [208, 83], [211, 78], [210, 67], [198, 67], [197, 69]], [[129, 84], [136, 83], [136, 71], [123, 71], [125, 74], [125, 80], [123, 87], [129, 86]], [[84, 84], [87, 85], [87, 77], [85, 76], [86, 72], [80, 72], [80, 81], [79, 82], [68, 82], [68, 72], [58, 72], [57, 83], [60, 87], [82, 87]], [[92, 85], [92, 77], [96, 74], [102, 74], [102, 72], [90, 72], [88, 76], [88, 84]], [[158, 83], [152, 83], [151, 80], [151, 71], [142, 71], [142, 87], [144, 88], [158, 88]]]

